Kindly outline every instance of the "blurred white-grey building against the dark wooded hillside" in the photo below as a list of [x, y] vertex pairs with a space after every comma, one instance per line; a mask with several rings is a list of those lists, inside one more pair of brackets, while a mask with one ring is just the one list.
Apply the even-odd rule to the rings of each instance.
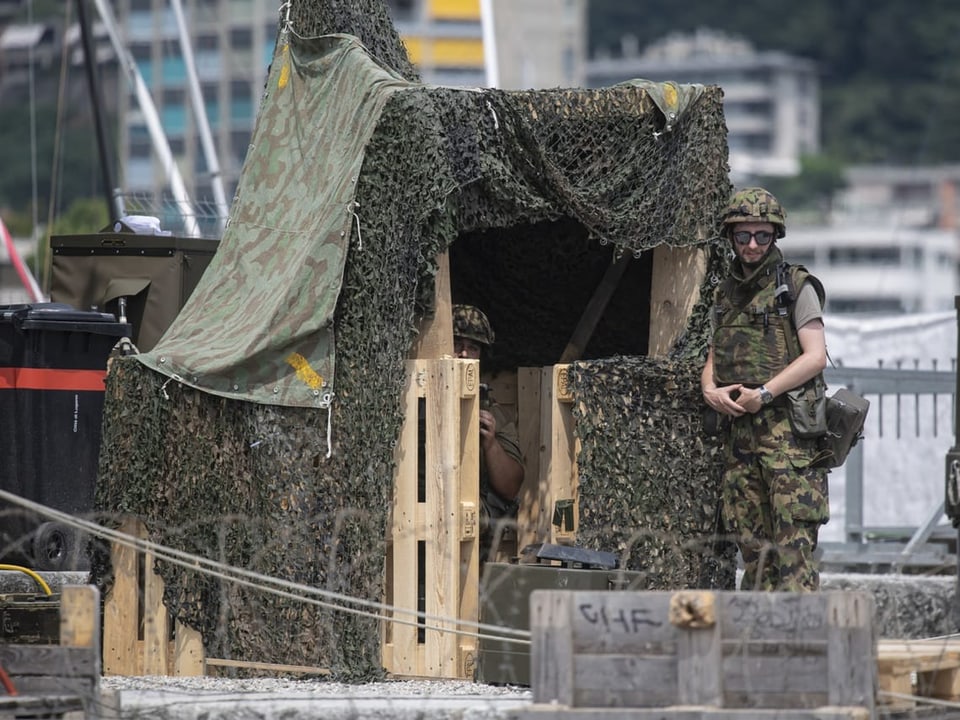
[[627, 37], [619, 56], [591, 58], [586, 73], [590, 87], [643, 78], [723, 88], [734, 180], [794, 175], [800, 157], [820, 148], [820, 82], [815, 63], [804, 58], [698, 30], [642, 51]]

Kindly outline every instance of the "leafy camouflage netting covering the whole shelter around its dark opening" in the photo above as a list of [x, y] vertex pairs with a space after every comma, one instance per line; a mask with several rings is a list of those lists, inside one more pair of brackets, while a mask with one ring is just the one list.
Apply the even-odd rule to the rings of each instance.
[[[301, 38], [353, 34], [416, 79], [379, 0], [294, 0], [291, 20]], [[637, 259], [584, 356], [595, 362], [577, 369], [584, 537], [629, 550], [651, 587], [707, 582], [696, 555], [713, 535], [715, 496], [694, 392], [703, 303], [670, 361], [680, 364], [636, 356], [656, 322], [651, 251], [711, 245], [729, 195], [720, 90], [704, 88], [664, 125], [638, 86], [394, 93], [357, 182], [362, 250], [347, 238], [332, 456], [325, 410], [227, 400], [123, 359], [108, 378], [99, 510], [143, 518], [165, 545], [380, 600], [404, 360], [430, 311], [435, 258], [451, 248], [455, 300], [489, 309], [497, 362], [512, 368], [557, 362], [605, 268], [627, 253]], [[705, 286], [722, 253], [710, 258]], [[650, 532], [637, 540], [641, 526]], [[341, 679], [382, 674], [373, 619], [168, 563], [158, 571], [168, 605], [203, 632], [211, 656], [327, 667]], [[109, 582], [102, 553], [95, 575]]]

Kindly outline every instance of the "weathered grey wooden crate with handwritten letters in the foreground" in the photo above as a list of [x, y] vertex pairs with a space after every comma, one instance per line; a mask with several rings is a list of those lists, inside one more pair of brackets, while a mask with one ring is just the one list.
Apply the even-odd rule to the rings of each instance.
[[875, 712], [866, 593], [541, 590], [531, 596], [531, 632], [526, 717]]

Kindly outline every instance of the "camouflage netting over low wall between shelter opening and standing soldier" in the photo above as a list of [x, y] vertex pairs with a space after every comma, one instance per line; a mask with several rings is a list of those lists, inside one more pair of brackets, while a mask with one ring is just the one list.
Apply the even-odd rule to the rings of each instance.
[[718, 444], [703, 432], [699, 360], [617, 357], [570, 372], [580, 527], [617, 552], [635, 587], [733, 589], [735, 547], [717, 520]]

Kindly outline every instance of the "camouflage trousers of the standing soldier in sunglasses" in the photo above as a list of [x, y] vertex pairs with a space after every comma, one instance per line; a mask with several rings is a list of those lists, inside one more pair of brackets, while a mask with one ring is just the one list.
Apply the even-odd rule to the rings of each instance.
[[794, 436], [780, 405], [731, 423], [722, 503], [743, 557], [742, 590], [820, 589], [814, 551], [830, 505], [827, 471], [810, 467], [815, 444]]

